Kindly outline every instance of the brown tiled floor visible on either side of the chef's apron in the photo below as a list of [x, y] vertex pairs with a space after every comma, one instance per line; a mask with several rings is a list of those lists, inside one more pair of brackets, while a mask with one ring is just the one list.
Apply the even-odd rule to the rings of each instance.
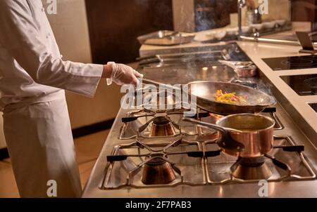
[[[82, 187], [89, 178], [107, 135], [108, 131], [102, 131], [75, 140]], [[6, 197], [19, 197], [10, 159], [0, 161], [0, 198]]]

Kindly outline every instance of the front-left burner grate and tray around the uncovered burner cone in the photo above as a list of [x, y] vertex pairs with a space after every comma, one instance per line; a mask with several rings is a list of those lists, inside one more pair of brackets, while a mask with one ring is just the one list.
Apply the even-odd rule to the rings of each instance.
[[[154, 143], [148, 143], [149, 140]], [[201, 164], [203, 151], [199, 143], [180, 138], [174, 138], [170, 143], [157, 143], [157, 141], [140, 138], [135, 143], [115, 147], [113, 154], [107, 157], [108, 165], [101, 189], [195, 185], [206, 182]], [[156, 159], [166, 161], [173, 168], [175, 179], [170, 183], [147, 185], [142, 182], [144, 165]], [[189, 166], [190, 171], [186, 168]]]

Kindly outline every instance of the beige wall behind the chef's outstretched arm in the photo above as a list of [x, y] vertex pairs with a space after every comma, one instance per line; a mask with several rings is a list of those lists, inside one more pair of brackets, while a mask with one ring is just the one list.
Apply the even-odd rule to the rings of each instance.
[[[46, 0], [42, 0], [47, 6]], [[85, 0], [58, 0], [57, 14], [48, 15], [63, 60], [92, 62]], [[67, 93], [73, 128], [113, 119], [120, 107], [120, 88], [101, 81], [95, 98]]]

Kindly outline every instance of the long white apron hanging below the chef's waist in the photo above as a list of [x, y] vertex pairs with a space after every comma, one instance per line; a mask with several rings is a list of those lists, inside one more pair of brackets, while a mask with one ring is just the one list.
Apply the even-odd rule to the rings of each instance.
[[4, 110], [4, 134], [20, 196], [48, 197], [47, 183], [55, 180], [57, 197], [80, 197], [65, 93], [32, 101]]

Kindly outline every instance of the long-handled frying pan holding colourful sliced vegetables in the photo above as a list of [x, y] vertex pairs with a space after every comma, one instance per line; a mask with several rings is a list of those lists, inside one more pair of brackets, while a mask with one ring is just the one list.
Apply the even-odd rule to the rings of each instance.
[[[161, 84], [150, 79], [142, 79], [142, 83], [162, 86], [168, 90], [180, 90], [178, 87]], [[187, 85], [187, 94], [197, 98], [197, 107], [214, 114], [230, 115], [240, 113], [259, 113], [266, 109], [266, 107], [276, 104], [276, 100], [273, 96], [239, 84], [218, 81], [193, 81]], [[247, 96], [248, 105], [234, 105], [225, 102], [217, 102], [215, 100], [215, 96], [216, 91], [218, 90], [222, 90], [227, 93], [235, 93], [237, 96]]]

